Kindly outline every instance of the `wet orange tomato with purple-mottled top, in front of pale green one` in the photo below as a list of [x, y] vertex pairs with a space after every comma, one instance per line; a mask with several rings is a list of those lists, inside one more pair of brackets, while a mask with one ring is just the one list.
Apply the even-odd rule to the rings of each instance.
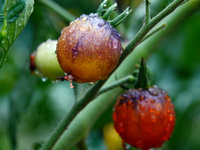
[[57, 43], [60, 67], [79, 83], [105, 79], [115, 68], [121, 51], [119, 33], [95, 14], [71, 22]]

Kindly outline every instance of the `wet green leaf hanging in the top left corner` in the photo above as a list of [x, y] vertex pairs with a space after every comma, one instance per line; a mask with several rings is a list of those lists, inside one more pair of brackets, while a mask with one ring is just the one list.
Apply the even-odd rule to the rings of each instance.
[[0, 8], [0, 68], [9, 48], [27, 24], [34, 0], [5, 0], [1, 4], [4, 7]]

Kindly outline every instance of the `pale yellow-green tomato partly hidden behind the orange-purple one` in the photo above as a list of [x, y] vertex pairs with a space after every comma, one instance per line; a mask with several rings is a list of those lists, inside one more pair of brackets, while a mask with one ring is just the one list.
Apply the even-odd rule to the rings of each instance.
[[64, 76], [56, 56], [57, 40], [47, 40], [40, 44], [35, 52], [34, 63], [36, 70], [43, 77], [56, 80], [57, 77]]

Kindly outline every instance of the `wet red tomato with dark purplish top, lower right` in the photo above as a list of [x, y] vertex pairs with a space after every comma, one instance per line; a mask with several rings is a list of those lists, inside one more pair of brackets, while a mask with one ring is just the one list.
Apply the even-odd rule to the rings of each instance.
[[158, 148], [174, 129], [174, 105], [160, 88], [131, 89], [118, 98], [113, 120], [124, 142], [142, 150]]

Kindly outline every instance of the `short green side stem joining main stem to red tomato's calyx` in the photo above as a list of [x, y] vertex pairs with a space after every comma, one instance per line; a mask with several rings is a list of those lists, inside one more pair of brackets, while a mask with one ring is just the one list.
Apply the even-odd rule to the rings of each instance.
[[111, 89], [113, 89], [115, 87], [118, 87], [118, 86], [120, 86], [120, 85], [122, 85], [124, 83], [127, 83], [127, 82], [132, 83], [134, 80], [136, 80], [135, 77], [133, 77], [132, 75], [128, 75], [128, 76], [126, 76], [126, 77], [124, 77], [122, 79], [119, 79], [119, 80], [117, 80], [117, 81], [115, 81], [115, 82], [113, 82], [113, 83], [111, 83], [109, 85], [106, 85], [106, 86], [102, 87], [100, 89], [100, 91], [98, 92], [98, 95], [100, 95], [102, 93], [105, 93], [105, 92], [107, 92], [107, 91], [109, 91], [109, 90], [111, 90]]

